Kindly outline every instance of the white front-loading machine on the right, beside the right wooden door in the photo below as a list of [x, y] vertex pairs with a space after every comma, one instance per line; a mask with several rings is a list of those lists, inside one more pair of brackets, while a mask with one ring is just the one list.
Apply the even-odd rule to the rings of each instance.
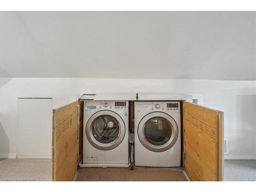
[[134, 103], [136, 166], [181, 166], [179, 101]]

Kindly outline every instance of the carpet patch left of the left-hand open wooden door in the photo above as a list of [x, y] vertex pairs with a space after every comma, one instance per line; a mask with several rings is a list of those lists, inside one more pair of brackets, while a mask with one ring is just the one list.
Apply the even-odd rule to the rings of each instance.
[[0, 181], [51, 180], [51, 159], [0, 159]]

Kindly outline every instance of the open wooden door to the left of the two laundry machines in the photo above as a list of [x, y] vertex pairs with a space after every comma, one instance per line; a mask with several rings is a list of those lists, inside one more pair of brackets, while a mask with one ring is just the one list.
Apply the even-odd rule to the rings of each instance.
[[52, 180], [73, 181], [77, 172], [78, 101], [53, 110]]

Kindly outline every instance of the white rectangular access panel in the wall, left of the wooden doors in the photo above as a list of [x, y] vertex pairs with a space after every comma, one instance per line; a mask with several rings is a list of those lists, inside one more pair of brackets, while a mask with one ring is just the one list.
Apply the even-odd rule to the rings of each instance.
[[50, 159], [52, 148], [52, 99], [18, 99], [18, 159]]

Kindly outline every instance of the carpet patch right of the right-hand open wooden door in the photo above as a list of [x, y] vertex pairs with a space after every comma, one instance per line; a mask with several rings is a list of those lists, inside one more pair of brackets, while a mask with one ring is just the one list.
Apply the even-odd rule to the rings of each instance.
[[224, 181], [256, 181], [256, 160], [224, 160]]

